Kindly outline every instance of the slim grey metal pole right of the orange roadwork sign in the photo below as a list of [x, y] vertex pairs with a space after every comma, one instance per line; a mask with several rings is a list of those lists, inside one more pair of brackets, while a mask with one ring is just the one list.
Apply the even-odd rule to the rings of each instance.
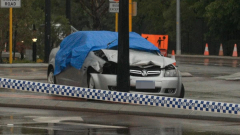
[[176, 14], [177, 14], [177, 22], [176, 22], [176, 28], [177, 28], [177, 32], [176, 32], [176, 42], [177, 42], [177, 46], [176, 46], [176, 54], [181, 55], [181, 20], [180, 20], [180, 0], [176, 0], [177, 1], [177, 10], [176, 10]]

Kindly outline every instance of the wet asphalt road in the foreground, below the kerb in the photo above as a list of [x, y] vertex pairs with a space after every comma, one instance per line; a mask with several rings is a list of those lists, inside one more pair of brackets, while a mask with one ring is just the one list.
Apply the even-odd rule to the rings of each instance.
[[0, 108], [1, 134], [237, 135], [240, 123], [108, 113]]

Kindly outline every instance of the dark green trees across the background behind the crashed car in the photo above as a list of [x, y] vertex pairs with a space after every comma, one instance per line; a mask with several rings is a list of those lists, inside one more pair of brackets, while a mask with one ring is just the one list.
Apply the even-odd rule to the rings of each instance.
[[[176, 40], [176, 0], [133, 0], [137, 16], [133, 31], [139, 34], [168, 34], [170, 45]], [[202, 49], [206, 42], [226, 43], [240, 38], [240, 1], [181, 0], [181, 39], [183, 52]], [[36, 35], [37, 55], [44, 56], [45, 0], [22, 0], [21, 8], [13, 9], [13, 33], [17, 42], [31, 49]], [[70, 23], [78, 30], [115, 30], [115, 14], [108, 12], [109, 0], [71, 0], [71, 22], [66, 19], [66, 0], [51, 0], [51, 47], [70, 34]], [[0, 9], [0, 51], [8, 42], [9, 9]], [[37, 32], [33, 32], [33, 24]], [[230, 43], [231, 41], [231, 43]], [[184, 50], [186, 49], [187, 50]], [[211, 51], [211, 46], [209, 46]], [[231, 47], [229, 50], [231, 50]], [[214, 49], [214, 48], [212, 48]], [[232, 51], [232, 50], [231, 50]], [[194, 53], [194, 52], [193, 52]]]

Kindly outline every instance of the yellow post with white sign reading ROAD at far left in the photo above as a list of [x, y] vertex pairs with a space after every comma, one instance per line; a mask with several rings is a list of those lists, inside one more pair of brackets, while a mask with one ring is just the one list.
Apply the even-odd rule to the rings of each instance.
[[1, 8], [9, 8], [9, 63], [12, 64], [12, 8], [21, 8], [21, 0], [1, 0]]

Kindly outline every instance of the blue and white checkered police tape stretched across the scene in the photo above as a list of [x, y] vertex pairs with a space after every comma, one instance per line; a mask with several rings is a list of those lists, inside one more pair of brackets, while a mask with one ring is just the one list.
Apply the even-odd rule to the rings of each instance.
[[240, 104], [96, 90], [0, 78], [0, 87], [68, 97], [240, 115]]

